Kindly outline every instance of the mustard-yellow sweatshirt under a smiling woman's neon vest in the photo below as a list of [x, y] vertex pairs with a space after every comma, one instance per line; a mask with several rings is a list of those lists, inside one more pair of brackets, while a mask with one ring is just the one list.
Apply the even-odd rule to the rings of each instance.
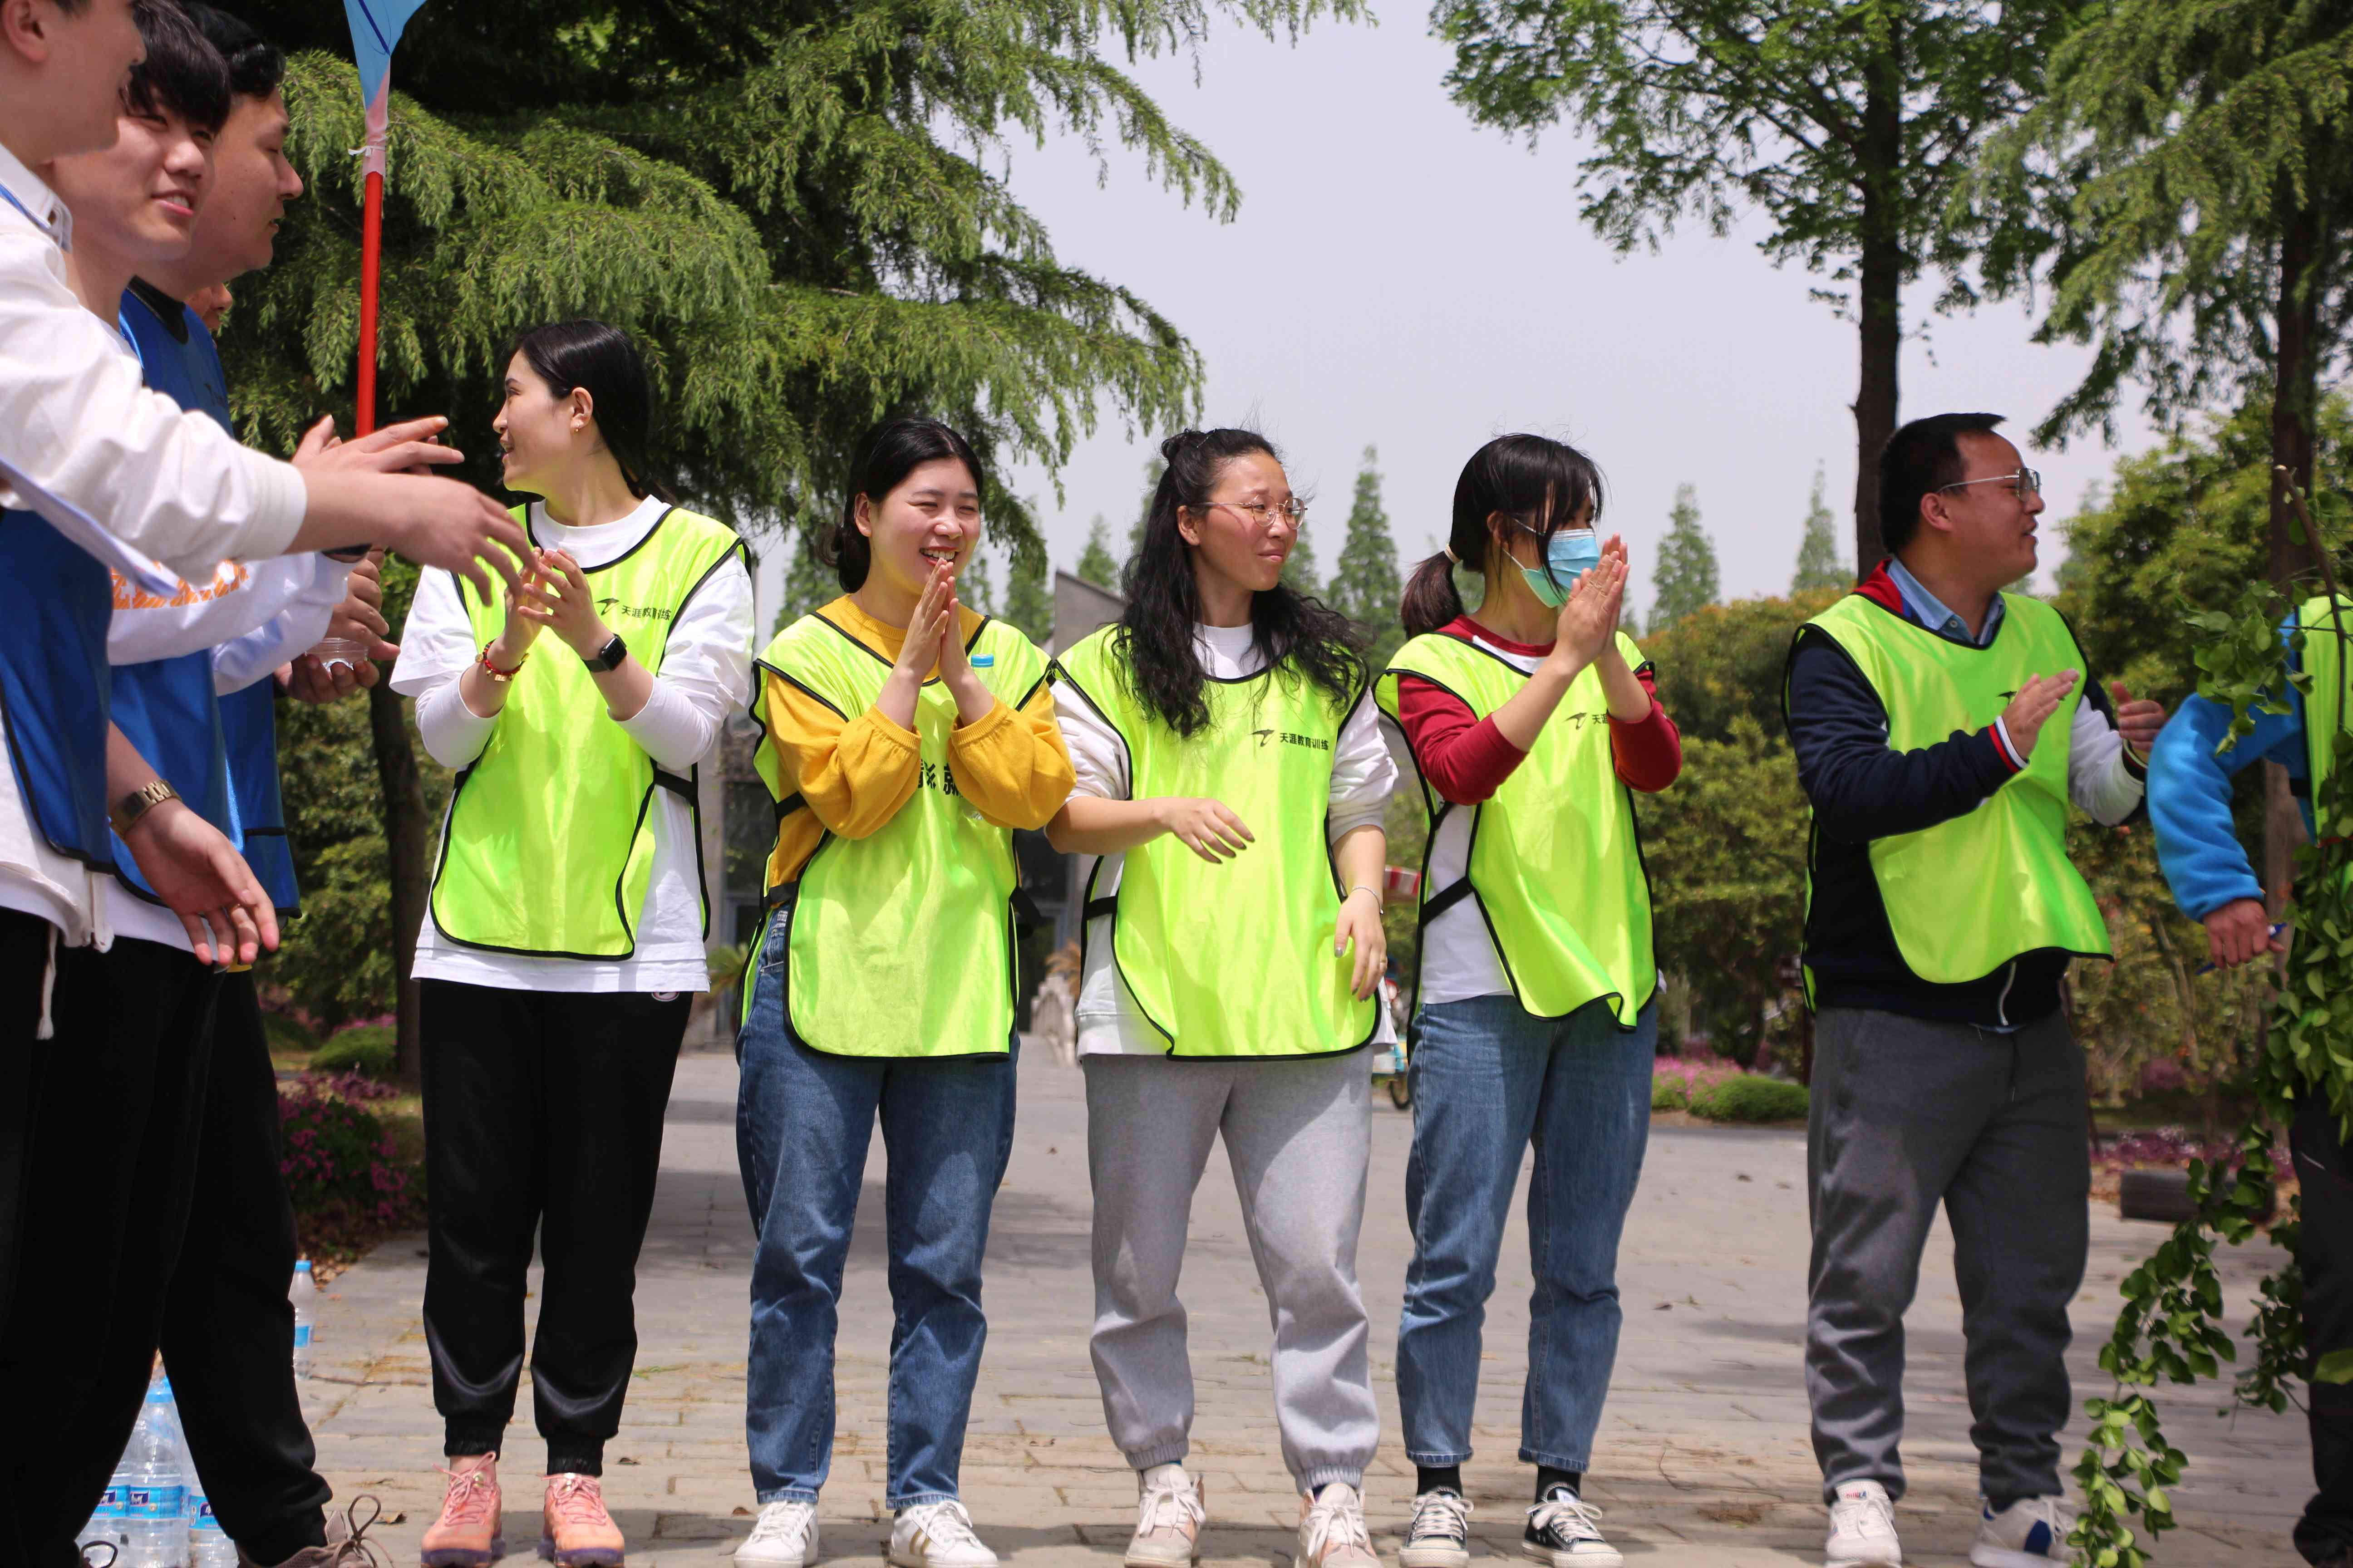
[[[819, 614], [896, 663], [904, 628], [882, 625], [847, 595]], [[981, 616], [969, 609], [955, 614], [958, 637], [972, 642]], [[939, 665], [925, 672], [927, 679], [932, 675]], [[776, 825], [767, 886], [798, 877], [826, 832], [864, 839], [913, 799], [922, 762], [915, 731], [901, 729], [880, 708], [842, 719], [791, 682], [772, 679], [760, 717], [800, 792]], [[998, 827], [1045, 827], [1071, 797], [1071, 752], [1054, 724], [1054, 691], [1040, 682], [1019, 710], [1000, 701], [972, 724], [958, 724], [948, 736], [948, 771], [972, 809]]]

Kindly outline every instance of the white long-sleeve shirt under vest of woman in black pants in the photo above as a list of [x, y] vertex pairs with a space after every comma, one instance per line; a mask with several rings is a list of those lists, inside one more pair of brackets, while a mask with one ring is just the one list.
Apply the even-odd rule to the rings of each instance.
[[[548, 550], [569, 550], [584, 569], [638, 548], [661, 520], [666, 505], [647, 498], [619, 522], [593, 529], [567, 529], [532, 503], [532, 536]], [[729, 559], [704, 583], [701, 592], [671, 623], [654, 691], [628, 719], [614, 719], [631, 741], [645, 748], [654, 766], [685, 773], [718, 745], [727, 715], [751, 698], [751, 571], [744, 559]], [[400, 628], [400, 661], [393, 665], [393, 691], [416, 698], [416, 733], [426, 750], [447, 769], [461, 769], [482, 755], [499, 717], [480, 717], [466, 708], [459, 677], [482, 649], [473, 639], [473, 621], [447, 571], [426, 571], [416, 583], [416, 602]], [[553, 632], [541, 632], [532, 658], [576, 658]], [[416, 976], [424, 980], [461, 980], [504, 990], [544, 992], [699, 992], [711, 985], [704, 964], [701, 860], [694, 844], [694, 813], [673, 790], [654, 790], [654, 879], [638, 910], [638, 952], [628, 959], [534, 959], [508, 952], [482, 952], [447, 940], [426, 912], [416, 931]], [[449, 823], [442, 823], [442, 832]], [[515, 867], [527, 875], [529, 867]]]

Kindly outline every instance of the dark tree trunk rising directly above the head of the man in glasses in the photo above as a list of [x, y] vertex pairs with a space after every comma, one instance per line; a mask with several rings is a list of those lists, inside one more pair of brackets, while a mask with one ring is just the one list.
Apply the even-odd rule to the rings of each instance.
[[1880, 451], [1897, 430], [1897, 355], [1904, 348], [1904, 87], [1901, 35], [1889, 21], [1887, 45], [1864, 80], [1861, 197], [1864, 244], [1857, 259], [1857, 339], [1861, 378], [1854, 390], [1854, 571], [1871, 571], [1887, 555], [1880, 534]]

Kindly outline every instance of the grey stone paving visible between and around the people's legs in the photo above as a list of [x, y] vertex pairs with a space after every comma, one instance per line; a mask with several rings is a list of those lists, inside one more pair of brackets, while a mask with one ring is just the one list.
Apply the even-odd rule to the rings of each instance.
[[[744, 1324], [751, 1227], [734, 1159], [734, 1063], [725, 1051], [680, 1063], [654, 1227], [638, 1276], [638, 1373], [605, 1493], [635, 1563], [718, 1568], [751, 1528], [744, 1469]], [[1362, 1239], [1374, 1326], [1384, 1448], [1367, 1476], [1369, 1514], [1388, 1561], [1412, 1495], [1398, 1448], [1395, 1328], [1407, 1262], [1402, 1180], [1409, 1121], [1379, 1103], [1372, 1213]], [[880, 1563], [882, 1389], [889, 1298], [882, 1279], [880, 1138], [849, 1253], [840, 1345], [840, 1436], [826, 1488], [828, 1561]], [[1819, 1474], [1798, 1378], [1805, 1319], [1805, 1138], [1795, 1131], [1654, 1128], [1621, 1260], [1626, 1335], [1602, 1422], [1591, 1500], [1635, 1563], [1701, 1568], [1819, 1563]], [[2155, 1225], [2094, 1213], [2092, 1272], [2075, 1305], [2078, 1401], [2099, 1392], [2097, 1347], [2115, 1284], [2158, 1239]], [[2233, 1300], [2264, 1258], [2231, 1255]], [[1527, 1345], [1527, 1244], [1513, 1229], [1487, 1314], [1480, 1458], [1466, 1469], [1482, 1556], [1518, 1561], [1529, 1474], [1515, 1462]], [[424, 1239], [402, 1237], [334, 1281], [318, 1314], [320, 1462], [336, 1495], [376, 1493], [391, 1563], [414, 1563], [440, 1497], [440, 1425], [426, 1373]], [[1193, 1206], [1186, 1262], [1200, 1415], [1193, 1469], [1207, 1476], [1214, 1563], [1282, 1563], [1297, 1500], [1275, 1448], [1266, 1368], [1266, 1302], [1249, 1267], [1224, 1161], [1212, 1159]], [[1078, 1072], [1031, 1053], [1021, 1131], [998, 1197], [988, 1253], [991, 1342], [965, 1450], [965, 1500], [988, 1542], [1021, 1568], [1115, 1561], [1134, 1481], [1104, 1436], [1087, 1363], [1085, 1103]], [[1913, 1563], [1962, 1563], [1974, 1528], [1974, 1453], [1960, 1375], [1960, 1305], [1951, 1239], [1929, 1244], [1911, 1312], [1906, 1380], [1911, 1497], [1899, 1509]], [[2212, 1389], [2172, 1396], [2169, 1434], [2191, 1453], [2177, 1488], [2186, 1528], [2160, 1563], [2294, 1563], [2287, 1528], [2308, 1490], [2301, 1418], [2217, 1420]], [[520, 1399], [508, 1476], [511, 1537], [536, 1530], [539, 1439]], [[2080, 1427], [2080, 1422], [2078, 1422]], [[2073, 1450], [2073, 1443], [2071, 1443]]]

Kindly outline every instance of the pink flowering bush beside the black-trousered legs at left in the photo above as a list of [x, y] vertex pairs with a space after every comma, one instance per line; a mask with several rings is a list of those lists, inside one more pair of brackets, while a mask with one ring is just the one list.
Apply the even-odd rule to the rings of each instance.
[[313, 1253], [416, 1220], [424, 1194], [384, 1119], [367, 1107], [395, 1091], [358, 1072], [278, 1086], [280, 1168], [294, 1225]]

